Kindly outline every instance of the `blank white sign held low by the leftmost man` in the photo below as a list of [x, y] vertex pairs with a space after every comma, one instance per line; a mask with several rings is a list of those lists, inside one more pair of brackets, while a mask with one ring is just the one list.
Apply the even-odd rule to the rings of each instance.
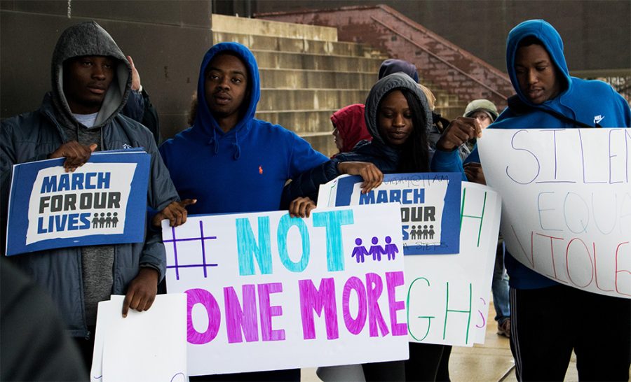
[[186, 296], [157, 295], [151, 309], [130, 309], [125, 296], [99, 303], [90, 381], [186, 382]]

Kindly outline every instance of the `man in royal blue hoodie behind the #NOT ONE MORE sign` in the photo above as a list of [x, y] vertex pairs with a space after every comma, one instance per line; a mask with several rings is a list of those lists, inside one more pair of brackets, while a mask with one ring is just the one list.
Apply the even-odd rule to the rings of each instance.
[[[254, 118], [260, 87], [245, 46], [219, 43], [206, 52], [195, 122], [160, 147], [179, 195], [197, 199], [189, 213], [276, 211], [287, 180], [328, 160], [293, 132]], [[300, 370], [217, 376], [230, 380], [299, 381]]]

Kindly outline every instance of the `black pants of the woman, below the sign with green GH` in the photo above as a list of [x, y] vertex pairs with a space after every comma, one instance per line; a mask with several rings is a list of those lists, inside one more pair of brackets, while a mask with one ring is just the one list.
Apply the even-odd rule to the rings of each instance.
[[449, 382], [452, 346], [409, 343], [409, 360], [362, 365], [366, 382], [440, 381]]

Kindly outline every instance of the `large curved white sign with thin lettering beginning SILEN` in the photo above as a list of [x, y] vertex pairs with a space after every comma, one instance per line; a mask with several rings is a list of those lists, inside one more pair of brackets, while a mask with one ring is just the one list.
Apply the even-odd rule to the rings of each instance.
[[574, 288], [631, 297], [631, 129], [487, 129], [510, 254]]

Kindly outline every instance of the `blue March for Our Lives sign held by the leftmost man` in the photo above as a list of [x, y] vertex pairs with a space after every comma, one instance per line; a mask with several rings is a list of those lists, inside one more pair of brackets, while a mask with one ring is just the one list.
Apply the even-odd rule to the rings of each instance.
[[98, 244], [140, 243], [150, 155], [102, 151], [74, 172], [64, 158], [15, 164], [6, 255]]

